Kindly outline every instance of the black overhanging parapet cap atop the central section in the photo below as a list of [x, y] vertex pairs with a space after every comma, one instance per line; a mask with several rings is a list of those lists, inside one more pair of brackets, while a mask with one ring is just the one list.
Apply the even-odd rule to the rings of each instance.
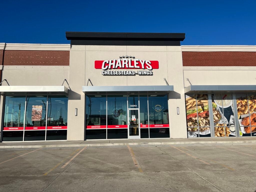
[[185, 33], [66, 32], [71, 45], [180, 46]]

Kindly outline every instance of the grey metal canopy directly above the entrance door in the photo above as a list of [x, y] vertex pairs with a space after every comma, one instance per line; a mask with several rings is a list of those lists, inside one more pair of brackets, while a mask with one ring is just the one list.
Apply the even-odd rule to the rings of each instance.
[[164, 86], [83, 86], [85, 94], [167, 94], [172, 85]]

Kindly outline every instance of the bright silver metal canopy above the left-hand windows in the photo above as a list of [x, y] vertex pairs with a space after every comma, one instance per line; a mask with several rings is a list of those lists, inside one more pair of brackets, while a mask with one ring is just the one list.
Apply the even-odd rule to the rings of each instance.
[[65, 86], [0, 86], [1, 95], [68, 94]]

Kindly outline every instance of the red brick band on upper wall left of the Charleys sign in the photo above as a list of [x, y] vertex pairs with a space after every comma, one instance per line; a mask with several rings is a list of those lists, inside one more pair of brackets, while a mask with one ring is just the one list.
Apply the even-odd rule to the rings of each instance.
[[69, 66], [69, 51], [5, 50], [4, 65]]

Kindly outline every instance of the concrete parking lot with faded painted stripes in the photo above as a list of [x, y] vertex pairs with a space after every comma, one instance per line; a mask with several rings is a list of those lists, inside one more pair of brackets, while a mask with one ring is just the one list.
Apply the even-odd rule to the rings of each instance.
[[255, 191], [256, 144], [0, 149], [0, 191]]

